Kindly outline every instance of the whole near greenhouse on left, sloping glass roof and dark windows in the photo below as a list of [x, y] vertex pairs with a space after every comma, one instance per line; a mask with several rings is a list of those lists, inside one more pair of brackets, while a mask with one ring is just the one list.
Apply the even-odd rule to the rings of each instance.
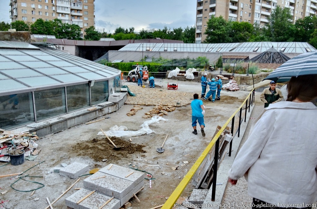
[[49, 47], [0, 41], [0, 128], [8, 130], [108, 101], [121, 71]]

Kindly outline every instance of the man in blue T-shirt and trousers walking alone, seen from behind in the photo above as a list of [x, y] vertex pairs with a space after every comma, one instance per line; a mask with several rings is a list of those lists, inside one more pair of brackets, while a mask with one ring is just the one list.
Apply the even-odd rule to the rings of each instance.
[[197, 135], [197, 120], [201, 128], [201, 134], [205, 136], [205, 131], [204, 131], [204, 114], [205, 114], [205, 108], [203, 105], [203, 101], [198, 99], [199, 95], [194, 94], [194, 100], [191, 101], [191, 126], [194, 128], [193, 134]]

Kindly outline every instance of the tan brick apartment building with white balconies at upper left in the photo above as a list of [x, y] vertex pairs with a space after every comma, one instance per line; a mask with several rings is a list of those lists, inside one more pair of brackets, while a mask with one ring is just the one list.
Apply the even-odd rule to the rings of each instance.
[[39, 18], [44, 21], [57, 18], [63, 23], [79, 25], [81, 36], [86, 28], [95, 25], [94, 0], [10, 0], [10, 6], [12, 22], [34, 23]]

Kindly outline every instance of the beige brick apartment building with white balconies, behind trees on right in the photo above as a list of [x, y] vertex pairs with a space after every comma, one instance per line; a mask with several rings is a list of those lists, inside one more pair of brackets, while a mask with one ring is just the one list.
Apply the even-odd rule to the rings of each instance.
[[211, 16], [263, 27], [277, 5], [289, 8], [295, 23], [300, 18], [316, 15], [317, 0], [197, 0], [196, 43], [206, 39], [204, 33]]

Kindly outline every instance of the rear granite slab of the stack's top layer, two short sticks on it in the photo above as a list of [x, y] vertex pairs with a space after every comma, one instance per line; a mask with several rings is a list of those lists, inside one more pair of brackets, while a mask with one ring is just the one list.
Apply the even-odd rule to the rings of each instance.
[[[110, 168], [110, 170], [108, 170], [108, 168], [110, 166], [111, 166], [111, 168]], [[140, 171], [125, 168], [125, 167], [115, 165], [115, 164], [108, 164], [106, 167], [103, 167], [102, 169], [100, 169], [99, 172], [106, 173], [106, 174], [109, 174], [111, 176], [117, 176], [119, 178], [132, 181], [133, 187], [136, 187], [141, 181], [144, 180], [144, 177], [145, 177], [145, 174], [140, 172]], [[133, 172], [133, 174], [126, 177], [131, 172]]]

